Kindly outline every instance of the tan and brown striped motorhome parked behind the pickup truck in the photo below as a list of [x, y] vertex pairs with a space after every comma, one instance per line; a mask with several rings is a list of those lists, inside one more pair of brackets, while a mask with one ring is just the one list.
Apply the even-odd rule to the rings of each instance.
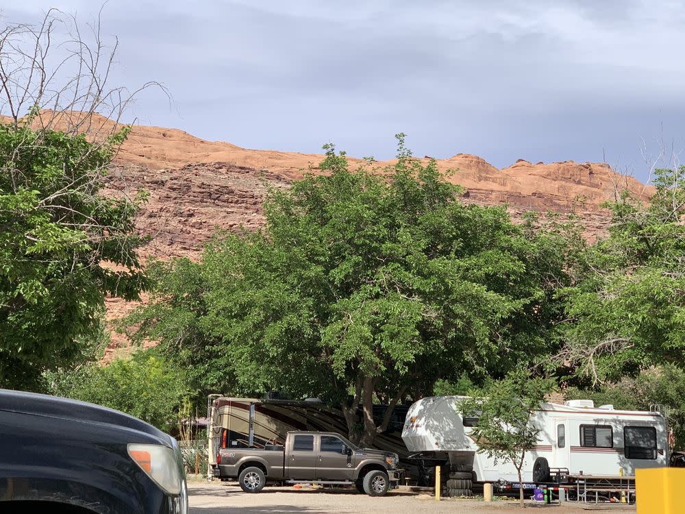
[[[258, 400], [256, 398], [216, 397], [209, 400], [210, 426], [208, 453], [211, 466], [216, 464], [219, 448], [264, 448], [282, 445], [288, 432], [316, 430], [338, 432], [347, 436], [343, 412], [319, 400]], [[373, 406], [373, 415], [382, 419], [386, 406]], [[402, 428], [408, 407], [395, 406], [388, 429], [379, 434], [373, 445], [377, 450], [408, 456], [402, 441]]]

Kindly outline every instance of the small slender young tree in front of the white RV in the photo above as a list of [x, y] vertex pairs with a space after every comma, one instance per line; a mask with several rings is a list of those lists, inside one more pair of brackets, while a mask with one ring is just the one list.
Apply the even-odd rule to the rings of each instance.
[[538, 444], [542, 428], [533, 421], [553, 381], [532, 377], [527, 371], [512, 371], [506, 378], [490, 382], [484, 389], [473, 391], [472, 397], [459, 404], [464, 417], [477, 417], [471, 429], [478, 452], [497, 461], [512, 463], [519, 476], [519, 500], [523, 501], [521, 468], [525, 453]]

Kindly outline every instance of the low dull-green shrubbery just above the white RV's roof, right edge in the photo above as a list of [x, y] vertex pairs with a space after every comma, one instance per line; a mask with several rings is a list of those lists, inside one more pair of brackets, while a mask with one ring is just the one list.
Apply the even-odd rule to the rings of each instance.
[[615, 408], [648, 411], [654, 405], [665, 407], [669, 428], [675, 435], [671, 450], [685, 450], [685, 371], [665, 364], [642, 371], [636, 377], [623, 377], [617, 382], [595, 389], [569, 387], [567, 400], [589, 398], [595, 405], [612, 404]]

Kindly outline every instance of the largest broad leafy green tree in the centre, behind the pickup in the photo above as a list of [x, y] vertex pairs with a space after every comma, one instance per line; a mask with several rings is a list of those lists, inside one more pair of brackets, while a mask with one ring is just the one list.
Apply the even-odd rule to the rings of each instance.
[[[463, 204], [398, 138], [384, 171], [350, 171], [327, 145], [319, 175], [271, 191], [263, 230], [216, 238], [199, 264], [157, 265], [153, 302], [128, 320], [136, 338], [161, 341], [201, 388], [322, 397], [364, 444], [438, 378], [547, 354], [568, 283], [563, 230]], [[375, 402], [390, 405], [382, 420]]]

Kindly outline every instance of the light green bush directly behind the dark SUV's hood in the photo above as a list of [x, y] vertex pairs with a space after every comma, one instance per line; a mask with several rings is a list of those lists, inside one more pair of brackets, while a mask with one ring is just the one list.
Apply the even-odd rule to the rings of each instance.
[[164, 430], [178, 430], [179, 413], [190, 397], [186, 378], [155, 350], [112, 363], [50, 373], [51, 392], [123, 411]]

